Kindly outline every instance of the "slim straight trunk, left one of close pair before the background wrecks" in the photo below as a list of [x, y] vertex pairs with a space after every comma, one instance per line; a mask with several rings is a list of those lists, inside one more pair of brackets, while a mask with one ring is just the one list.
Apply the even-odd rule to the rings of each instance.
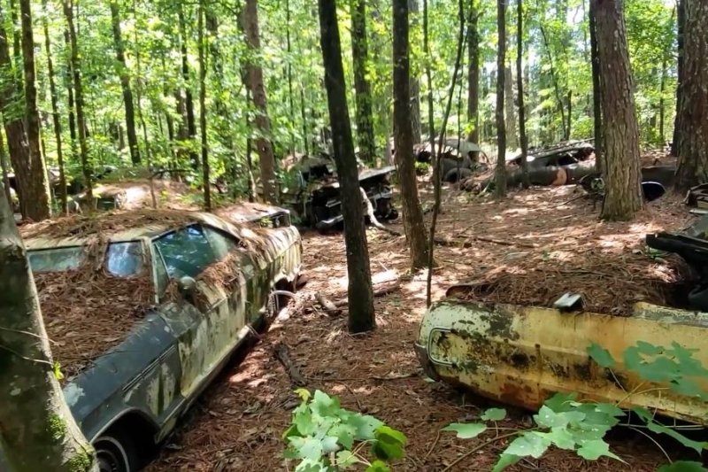
[[506, 195], [506, 128], [504, 128], [504, 64], [506, 62], [506, 0], [496, 0], [496, 197]]

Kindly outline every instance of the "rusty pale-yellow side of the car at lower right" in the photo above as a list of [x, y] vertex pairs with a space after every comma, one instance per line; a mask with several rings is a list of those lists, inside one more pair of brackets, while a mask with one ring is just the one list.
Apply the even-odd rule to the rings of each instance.
[[[676, 341], [698, 349], [696, 360], [708, 366], [706, 329], [708, 313], [643, 303], [631, 316], [620, 317], [444, 300], [424, 316], [417, 344], [431, 375], [512, 405], [537, 409], [555, 392], [574, 391], [581, 398], [644, 406], [708, 424], [708, 403], [651, 391], [666, 385], [643, 383], [622, 362], [623, 352], [637, 341], [665, 346]], [[591, 343], [618, 361], [614, 375], [589, 358]], [[695, 380], [708, 391], [708, 379]], [[627, 395], [637, 387], [637, 393]]]

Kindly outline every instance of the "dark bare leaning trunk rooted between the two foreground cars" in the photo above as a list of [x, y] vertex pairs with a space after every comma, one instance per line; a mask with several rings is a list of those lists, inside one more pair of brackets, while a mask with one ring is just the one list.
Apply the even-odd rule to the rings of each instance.
[[[403, 0], [404, 2], [407, 0]], [[376, 327], [369, 250], [366, 244], [364, 208], [359, 190], [357, 159], [351, 138], [347, 95], [342, 67], [342, 47], [334, 0], [319, 0], [319, 26], [325, 87], [335, 147], [335, 163], [342, 189], [344, 242], [349, 275], [349, 330], [360, 333]], [[407, 81], [406, 81], [407, 83]], [[408, 118], [408, 117], [406, 117]], [[409, 121], [410, 126], [410, 121]]]

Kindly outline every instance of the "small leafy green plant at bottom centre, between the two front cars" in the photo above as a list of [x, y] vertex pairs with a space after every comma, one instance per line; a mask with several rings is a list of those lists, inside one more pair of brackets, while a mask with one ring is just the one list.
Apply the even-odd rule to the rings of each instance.
[[366, 472], [388, 472], [389, 462], [404, 457], [408, 439], [401, 431], [373, 416], [342, 408], [339, 398], [323, 391], [311, 395], [298, 389], [296, 394], [302, 403], [283, 433], [288, 442], [285, 458], [300, 460], [296, 472], [335, 472], [356, 466], [366, 467]]

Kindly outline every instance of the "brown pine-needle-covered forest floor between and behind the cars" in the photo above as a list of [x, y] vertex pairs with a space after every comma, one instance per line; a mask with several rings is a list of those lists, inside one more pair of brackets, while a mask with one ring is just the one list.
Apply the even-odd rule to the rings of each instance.
[[[458, 244], [435, 249], [438, 267], [434, 272], [433, 298], [443, 298], [452, 284], [489, 282], [490, 271], [499, 267], [511, 270], [521, 260], [531, 259], [542, 266], [546, 264], [544, 267], [555, 261], [555, 273], [544, 273], [543, 277], [566, 277], [564, 292], [581, 290], [573, 285], [588, 283], [582, 270], [562, 274], [560, 269], [573, 264], [583, 267], [584, 260], [602, 252], [620, 259], [624, 257], [621, 254], [628, 254], [640, 266], [640, 259], [644, 259], [644, 269], [653, 271], [651, 277], [672, 280], [672, 262], [657, 262], [644, 254], [643, 236], [662, 229], [677, 230], [689, 220], [680, 197], [664, 197], [650, 204], [630, 224], [603, 223], [597, 220], [599, 205], [594, 208], [584, 198], [573, 200], [573, 191], [571, 187], [519, 191], [497, 203], [444, 190], [438, 234], [472, 244], [464, 244], [469, 246], [466, 248]], [[430, 192], [423, 191], [421, 196], [429, 205]], [[398, 224], [392, 228], [402, 230]], [[330, 317], [316, 309], [276, 322], [240, 365], [230, 368], [205, 392], [150, 466], [151, 471], [288, 469], [282, 459], [285, 444], [281, 433], [289, 426], [297, 400], [289, 376], [273, 357], [273, 347], [278, 343], [289, 346], [290, 357], [306, 378], [308, 388], [335, 394], [343, 407], [373, 414], [404, 431], [409, 444], [404, 460], [394, 466], [395, 470], [447, 470], [481, 444], [481, 439], [462, 440], [440, 430], [450, 422], [474, 421], [489, 403], [446, 384], [428, 382], [412, 349], [426, 309], [426, 273], [408, 275], [403, 237], [369, 229], [368, 239], [372, 273], [394, 271], [401, 281], [399, 290], [376, 298], [378, 328], [366, 336], [352, 337], [347, 333], [345, 313]], [[596, 278], [625, 270], [620, 266], [621, 260], [612, 260], [615, 262], [607, 262], [604, 268], [601, 263], [595, 264], [593, 271], [604, 274]], [[625, 275], [631, 279], [634, 272], [629, 274], [628, 270]], [[309, 278], [303, 288], [305, 295], [320, 293], [330, 299], [345, 295], [342, 235], [305, 233], [304, 271]], [[607, 276], [603, 283], [612, 284], [616, 279], [615, 275]], [[539, 303], [560, 295], [562, 292], [536, 294]], [[585, 295], [586, 305], [592, 306], [593, 298]], [[632, 299], [639, 297], [641, 294]], [[529, 426], [530, 417], [512, 411], [507, 423], [504, 427]], [[666, 462], [656, 446], [643, 437], [614, 435], [611, 442], [612, 451], [627, 463], [585, 461], [573, 453], [553, 450], [540, 460], [524, 460], [510, 470], [650, 471]], [[499, 441], [466, 456], [450, 470], [490, 470], [503, 449], [504, 441]], [[292, 468], [290, 464], [289, 469]]]

